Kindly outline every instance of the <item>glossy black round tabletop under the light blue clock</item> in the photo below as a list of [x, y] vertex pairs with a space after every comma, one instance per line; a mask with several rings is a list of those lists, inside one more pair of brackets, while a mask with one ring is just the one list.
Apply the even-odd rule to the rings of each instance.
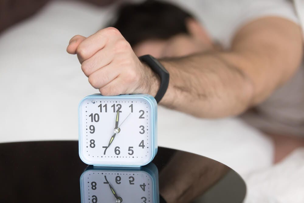
[[[96, 174], [98, 172], [98, 174], [100, 173], [99, 177], [102, 174], [104, 179], [106, 178], [104, 177], [105, 174], [110, 174], [109, 170], [112, 171], [112, 174], [115, 171], [113, 168], [107, 168], [107, 173], [102, 173], [103, 167], [94, 167], [94, 171], [92, 166], [88, 167], [81, 162], [78, 156], [77, 141], [1, 143], [0, 164], [2, 177], [0, 184], [1, 203], [97, 203], [96, 196], [84, 198], [83, 191], [87, 189], [81, 189], [81, 186], [89, 188], [88, 191], [92, 188], [91, 191], [95, 192], [97, 191], [97, 183], [85, 181], [81, 185], [81, 177], [83, 179], [83, 177], [93, 175], [93, 172]], [[154, 167], [151, 177], [154, 177], [157, 182], [157, 187], [155, 187], [157, 191], [154, 192], [157, 195], [161, 194], [163, 197], [160, 198], [160, 202], [165, 202], [164, 199], [167, 202], [175, 203], [240, 203], [244, 201], [246, 195], [244, 180], [234, 170], [215, 160], [188, 152], [159, 147], [152, 164], [142, 168], [145, 171], [153, 171], [148, 170], [151, 165]], [[111, 183], [113, 188], [116, 187], [116, 184], [120, 184], [119, 187], [122, 187], [123, 178], [121, 176], [124, 173], [121, 171], [122, 169], [118, 168], [117, 170], [119, 172], [117, 172], [117, 175], [114, 172], [116, 178]], [[134, 172], [130, 172], [130, 175], [134, 175]], [[128, 185], [129, 182], [130, 185], [133, 184], [132, 181], [134, 180], [131, 176], [128, 179], [129, 181], [126, 181]], [[110, 186], [110, 180], [105, 179], [103, 181]], [[85, 185], [87, 183], [88, 186]], [[99, 185], [98, 183], [98, 188]], [[130, 194], [134, 192], [130, 188], [128, 186], [124, 189], [124, 192], [130, 192]], [[145, 189], [143, 186], [138, 188], [139, 191]], [[152, 190], [152, 187], [149, 190]], [[82, 201], [83, 199], [86, 200]], [[153, 199], [153, 201], [152, 198], [151, 201], [150, 198], [146, 199], [142, 197], [138, 203], [158, 201], [158, 198]], [[99, 202], [108, 203], [108, 201], [98, 196]], [[128, 203], [128, 201], [123, 202]]]

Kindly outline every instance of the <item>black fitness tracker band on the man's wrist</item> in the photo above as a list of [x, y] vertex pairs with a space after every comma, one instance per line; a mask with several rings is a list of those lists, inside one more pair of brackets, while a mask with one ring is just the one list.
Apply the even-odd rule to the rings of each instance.
[[161, 79], [159, 90], [154, 97], [158, 103], [164, 96], [169, 85], [169, 72], [164, 68], [163, 65], [156, 58], [151, 55], [143, 55], [139, 57], [139, 60], [146, 63]]

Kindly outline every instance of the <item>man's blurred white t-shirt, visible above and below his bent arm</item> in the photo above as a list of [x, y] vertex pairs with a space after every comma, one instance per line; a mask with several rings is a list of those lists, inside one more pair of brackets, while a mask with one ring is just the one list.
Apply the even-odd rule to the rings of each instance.
[[[293, 2], [287, 0], [168, 1], [177, 2], [192, 12], [224, 48], [229, 48], [233, 35], [241, 26], [261, 17], [279, 16], [299, 24]], [[295, 5], [298, 12], [303, 10], [301, 0], [296, 0]], [[303, 63], [292, 79], [242, 118], [270, 133], [304, 136]]]

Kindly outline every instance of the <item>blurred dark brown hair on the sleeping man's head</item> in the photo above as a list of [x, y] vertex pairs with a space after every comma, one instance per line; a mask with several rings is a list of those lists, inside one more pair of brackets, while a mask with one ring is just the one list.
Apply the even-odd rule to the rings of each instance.
[[188, 34], [185, 22], [188, 18], [193, 17], [173, 4], [147, 0], [121, 5], [117, 19], [109, 26], [116, 27], [133, 47], [144, 40], [166, 40], [176, 34]]

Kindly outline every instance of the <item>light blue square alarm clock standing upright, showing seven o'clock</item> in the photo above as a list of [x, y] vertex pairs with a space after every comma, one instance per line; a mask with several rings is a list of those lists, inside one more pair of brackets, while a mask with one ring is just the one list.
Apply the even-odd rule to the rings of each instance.
[[148, 94], [81, 100], [79, 156], [94, 166], [140, 167], [157, 153], [157, 103]]

